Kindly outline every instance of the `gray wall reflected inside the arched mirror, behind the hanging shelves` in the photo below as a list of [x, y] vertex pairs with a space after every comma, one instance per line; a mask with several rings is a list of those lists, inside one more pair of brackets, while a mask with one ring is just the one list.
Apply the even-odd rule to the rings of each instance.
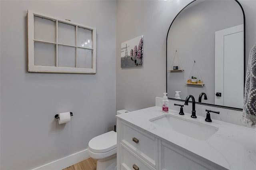
[[[194, 3], [192, 3], [192, 5], [193, 4]], [[243, 23], [242, 10], [234, 0], [207, 0], [183, 10], [173, 22], [168, 34], [167, 65], [168, 67], [172, 67], [170, 64], [173, 59], [174, 51], [177, 49], [178, 56], [185, 70], [183, 72], [168, 72], [168, 97], [174, 98], [175, 91], [181, 91], [181, 99], [184, 100], [187, 95], [193, 95], [196, 101], [198, 101], [199, 94], [204, 92], [208, 100], [202, 100], [202, 102], [214, 104], [214, 71], [215, 65], [218, 65], [218, 63], [214, 63], [215, 32]], [[241, 57], [244, 57], [244, 55]], [[196, 61], [201, 78], [206, 86], [185, 85], [194, 60]], [[175, 59], [174, 65], [175, 63], [176, 65], [178, 64], [177, 61], [178, 58]], [[243, 63], [238, 65], [238, 68], [242, 67]], [[191, 75], [196, 76], [197, 80], [200, 80], [196, 67], [192, 70]], [[191, 77], [189, 77], [189, 79], [191, 79]], [[242, 94], [244, 88], [238, 90], [240, 90]]]

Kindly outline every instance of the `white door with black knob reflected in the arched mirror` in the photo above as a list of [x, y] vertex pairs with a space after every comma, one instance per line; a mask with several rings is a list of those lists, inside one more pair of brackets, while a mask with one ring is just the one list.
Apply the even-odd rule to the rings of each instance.
[[243, 107], [244, 24], [215, 32], [215, 105]]

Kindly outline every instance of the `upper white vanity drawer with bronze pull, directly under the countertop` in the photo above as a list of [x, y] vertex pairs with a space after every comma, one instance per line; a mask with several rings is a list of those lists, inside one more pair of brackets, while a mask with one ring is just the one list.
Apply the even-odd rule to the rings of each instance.
[[158, 139], [123, 122], [121, 128], [121, 143], [156, 168]]

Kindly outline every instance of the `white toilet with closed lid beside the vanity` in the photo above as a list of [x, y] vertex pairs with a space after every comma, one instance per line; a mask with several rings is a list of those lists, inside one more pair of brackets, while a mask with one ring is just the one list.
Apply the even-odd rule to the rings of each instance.
[[[128, 113], [126, 110], [116, 114]], [[97, 160], [97, 170], [116, 170], [116, 132], [110, 131], [92, 138], [88, 143], [88, 154]]]

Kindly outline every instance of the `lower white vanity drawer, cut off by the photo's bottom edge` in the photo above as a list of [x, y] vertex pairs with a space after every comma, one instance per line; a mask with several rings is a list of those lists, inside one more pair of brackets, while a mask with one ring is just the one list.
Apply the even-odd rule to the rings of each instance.
[[155, 170], [123, 144], [121, 145], [121, 169], [122, 170]]

